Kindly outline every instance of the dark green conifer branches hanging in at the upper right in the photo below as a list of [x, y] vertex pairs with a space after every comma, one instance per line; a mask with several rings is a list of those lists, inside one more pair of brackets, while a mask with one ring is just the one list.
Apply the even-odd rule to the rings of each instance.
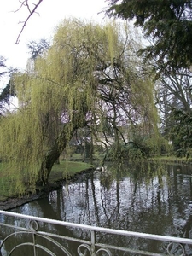
[[192, 2], [188, 0], [108, 0], [108, 15], [133, 20], [151, 42], [146, 58], [160, 72], [192, 66]]

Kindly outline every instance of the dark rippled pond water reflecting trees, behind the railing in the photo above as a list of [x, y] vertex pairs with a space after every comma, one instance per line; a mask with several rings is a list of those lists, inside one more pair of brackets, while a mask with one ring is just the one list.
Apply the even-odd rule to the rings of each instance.
[[[192, 167], [108, 164], [102, 172], [83, 174], [49, 197], [13, 211], [77, 224], [192, 238]], [[85, 235], [76, 232], [73, 236]], [[130, 242], [137, 247], [137, 241]], [[150, 247], [162, 251], [158, 242]]]

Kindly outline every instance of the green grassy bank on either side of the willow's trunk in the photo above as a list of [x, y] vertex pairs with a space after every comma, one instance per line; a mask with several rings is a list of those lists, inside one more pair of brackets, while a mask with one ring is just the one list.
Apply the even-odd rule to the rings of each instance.
[[[13, 189], [15, 177], [9, 177], [3, 172], [4, 164], [0, 164], [0, 201], [5, 201], [9, 197], [14, 197], [16, 191]], [[60, 164], [55, 164], [49, 175], [49, 183], [56, 183], [66, 178], [73, 177], [76, 173], [89, 169], [91, 166], [87, 163], [78, 161], [61, 160]], [[27, 188], [26, 188], [27, 191]]]

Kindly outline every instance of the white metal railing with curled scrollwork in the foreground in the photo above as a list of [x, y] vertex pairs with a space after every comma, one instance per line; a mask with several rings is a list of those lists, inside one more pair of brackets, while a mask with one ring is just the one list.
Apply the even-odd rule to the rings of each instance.
[[[5, 218], [13, 217], [16, 219], [14, 223], [9, 224], [4, 221]], [[1, 221], [3, 219], [3, 221]], [[27, 220], [27, 226], [21, 226], [20, 220]], [[90, 232], [90, 240], [83, 240], [79, 238], [65, 236], [65, 234], [55, 234], [55, 232], [47, 232], [44, 230], [39, 230], [39, 224], [54, 224], [59, 225], [61, 227], [67, 227], [70, 229], [78, 229], [78, 230], [87, 230]], [[3, 233], [3, 227], [6, 229], [11, 229], [9, 234]], [[32, 247], [32, 255], [42, 255], [38, 254], [39, 251], [46, 252], [46, 255], [67, 255], [72, 256], [70, 252], [70, 247], [66, 246], [66, 241], [77, 242], [77, 252], [75, 255], [79, 256], [99, 256], [99, 255], [191, 255], [192, 251], [190, 247], [192, 246], [192, 240], [188, 238], [180, 238], [180, 237], [172, 237], [172, 236], [159, 236], [147, 233], [139, 233], [132, 232], [126, 230], [114, 230], [101, 228], [97, 226], [85, 225], [85, 224], [74, 224], [61, 220], [49, 219], [49, 218], [39, 218], [30, 215], [24, 215], [15, 212], [7, 212], [0, 211], [0, 255], [19, 255], [17, 254], [17, 250], [20, 247]], [[142, 238], [150, 241], [162, 241], [166, 242], [165, 252], [162, 253], [154, 253], [144, 251], [143, 249], [137, 249], [133, 247], [121, 247], [119, 245], [115, 245], [115, 241], [113, 245], [103, 244], [96, 241], [96, 237], [98, 234], [113, 234], [115, 236], [129, 236], [134, 238]], [[10, 240], [14, 240], [15, 237], [21, 237], [18, 244], [13, 244], [12, 247], [9, 246], [9, 251], [6, 250], [6, 244], [10, 244]], [[27, 236], [27, 241], [24, 240], [24, 236]], [[30, 241], [29, 236], [31, 236], [32, 240]], [[44, 238], [48, 241], [49, 244], [52, 245], [51, 248], [48, 248], [38, 242], [38, 238]], [[61, 254], [55, 254], [52, 249], [55, 247], [61, 250]], [[186, 252], [187, 251], [190, 253]], [[78, 253], [78, 254], [77, 254]], [[122, 254], [120, 254], [122, 253]], [[126, 254], [127, 253], [127, 254]], [[29, 254], [27, 255], [29, 256]]]

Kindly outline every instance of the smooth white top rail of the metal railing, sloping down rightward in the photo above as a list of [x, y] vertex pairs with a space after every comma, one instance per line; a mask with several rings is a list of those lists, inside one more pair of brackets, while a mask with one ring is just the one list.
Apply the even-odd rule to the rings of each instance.
[[55, 220], [51, 218], [40, 218], [35, 217], [31, 215], [25, 215], [15, 212], [7, 212], [0, 210], [0, 214], [12, 216], [16, 218], [25, 218], [29, 220], [36, 220], [39, 222], [49, 223], [49, 224], [59, 224], [61, 226], [67, 226], [67, 227], [73, 227], [73, 228], [79, 228], [84, 230], [93, 230], [98, 232], [104, 232], [104, 233], [110, 233], [114, 235], [121, 235], [121, 236], [136, 236], [140, 238], [145, 239], [151, 239], [151, 240], [157, 240], [157, 241], [171, 241], [171, 242], [178, 242], [178, 243], [186, 243], [186, 244], [192, 244], [192, 240], [189, 238], [180, 238], [180, 237], [172, 237], [172, 236], [160, 236], [160, 235], [154, 235], [154, 234], [148, 234], [148, 233], [139, 233], [134, 231], [126, 231], [126, 230], [114, 230], [114, 229], [108, 229], [108, 228], [102, 228], [97, 226], [91, 226], [86, 224], [74, 224], [66, 221], [61, 220]]

